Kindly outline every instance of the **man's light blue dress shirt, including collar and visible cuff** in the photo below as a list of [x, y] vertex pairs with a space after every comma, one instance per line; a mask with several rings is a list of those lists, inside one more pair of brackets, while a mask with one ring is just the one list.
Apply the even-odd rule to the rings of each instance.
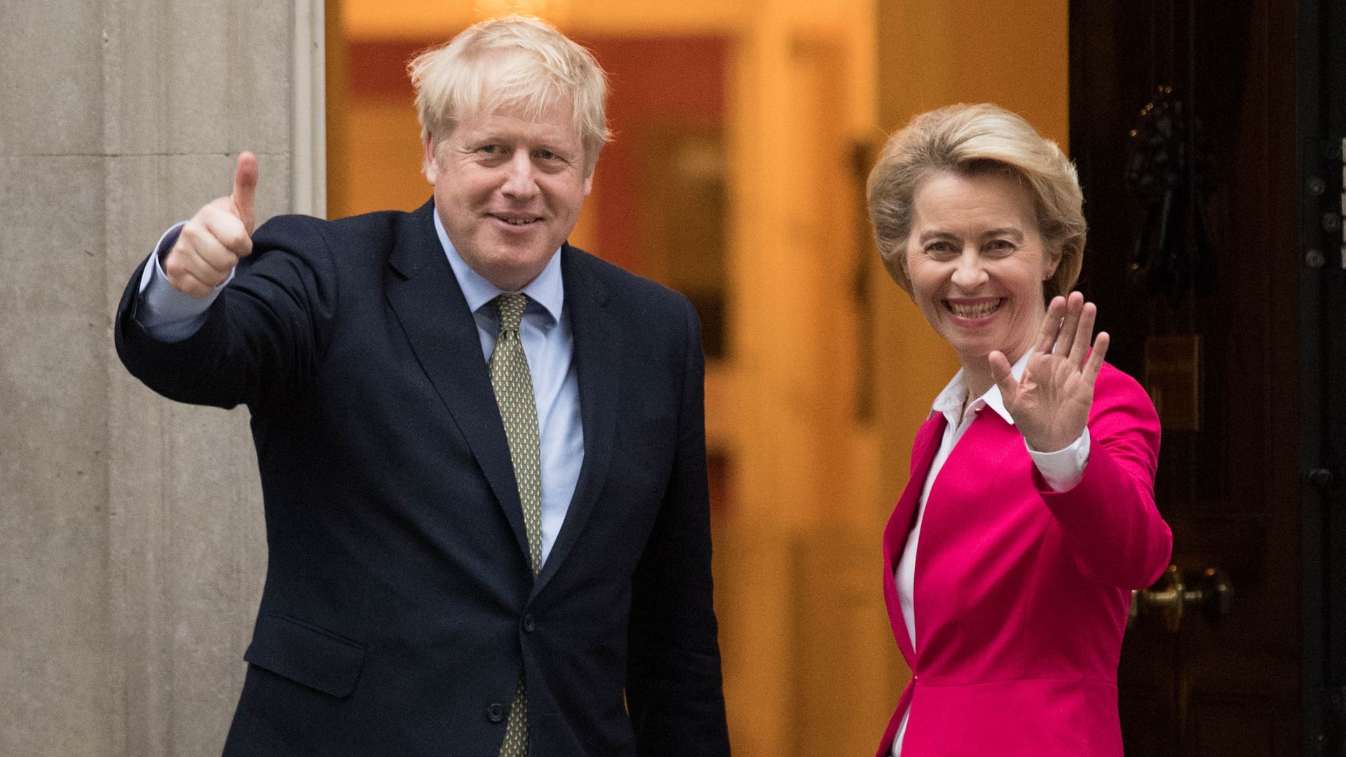
[[[444, 225], [435, 213], [435, 233], [463, 290], [467, 307], [476, 321], [476, 335], [482, 341], [482, 358], [490, 360], [499, 333], [499, 321], [491, 300], [505, 292], [491, 284], [458, 255]], [[190, 337], [206, 321], [206, 310], [229, 284], [221, 284], [206, 298], [194, 298], [172, 288], [159, 264], [163, 246], [178, 240], [182, 224], [168, 229], [155, 252], [151, 253], [140, 279], [140, 302], [136, 321], [152, 338], [163, 342]], [[233, 275], [230, 275], [230, 280]], [[528, 356], [528, 369], [533, 377], [533, 399], [537, 403], [537, 431], [542, 462], [542, 562], [556, 543], [556, 535], [565, 523], [571, 498], [584, 462], [584, 428], [580, 423], [580, 389], [575, 373], [575, 334], [569, 311], [565, 308], [565, 286], [561, 280], [561, 251], [557, 249], [546, 268], [522, 290], [528, 295], [528, 310], [520, 323], [520, 339]], [[446, 315], [447, 317], [447, 315]]]

